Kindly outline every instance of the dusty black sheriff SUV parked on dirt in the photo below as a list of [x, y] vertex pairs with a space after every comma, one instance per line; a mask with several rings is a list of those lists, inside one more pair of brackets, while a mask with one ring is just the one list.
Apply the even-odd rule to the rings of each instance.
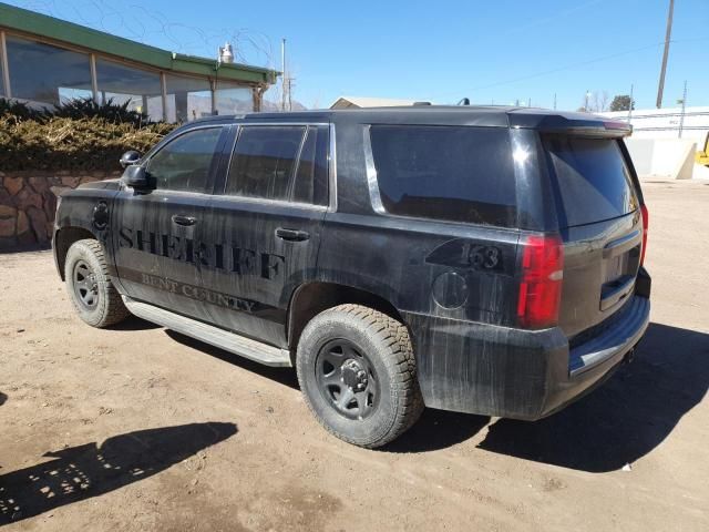
[[513, 108], [207, 119], [65, 194], [54, 257], [84, 321], [295, 366], [348, 442], [382, 446], [424, 405], [535, 420], [648, 324], [629, 132]]

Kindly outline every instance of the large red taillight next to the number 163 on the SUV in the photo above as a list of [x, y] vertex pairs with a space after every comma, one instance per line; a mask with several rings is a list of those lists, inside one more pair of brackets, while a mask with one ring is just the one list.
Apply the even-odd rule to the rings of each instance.
[[558, 323], [564, 278], [564, 243], [556, 235], [528, 236], [522, 255], [517, 300], [520, 325], [531, 329]]

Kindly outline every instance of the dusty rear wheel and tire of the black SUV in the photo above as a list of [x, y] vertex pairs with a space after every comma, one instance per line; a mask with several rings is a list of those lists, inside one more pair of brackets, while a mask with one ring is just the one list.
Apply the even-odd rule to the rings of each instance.
[[340, 305], [312, 318], [296, 368], [316, 419], [348, 443], [382, 447], [423, 411], [405, 326], [371, 308]]

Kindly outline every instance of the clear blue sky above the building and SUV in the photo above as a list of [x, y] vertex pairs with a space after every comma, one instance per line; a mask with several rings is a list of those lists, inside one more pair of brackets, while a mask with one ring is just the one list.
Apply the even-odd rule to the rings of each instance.
[[[668, 0], [495, 1], [10, 1], [172, 51], [280, 66], [288, 40], [294, 98], [328, 106], [339, 95], [438, 103], [516, 100], [576, 109], [584, 94], [635, 85], [655, 105]], [[665, 106], [709, 105], [709, 1], [677, 0]], [[277, 96], [274, 96], [277, 98]]]

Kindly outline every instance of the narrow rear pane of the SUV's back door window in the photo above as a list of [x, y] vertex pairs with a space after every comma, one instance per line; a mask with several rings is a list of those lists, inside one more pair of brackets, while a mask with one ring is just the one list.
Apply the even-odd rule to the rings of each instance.
[[292, 201], [327, 205], [328, 203], [328, 129], [310, 126], [300, 151]]

